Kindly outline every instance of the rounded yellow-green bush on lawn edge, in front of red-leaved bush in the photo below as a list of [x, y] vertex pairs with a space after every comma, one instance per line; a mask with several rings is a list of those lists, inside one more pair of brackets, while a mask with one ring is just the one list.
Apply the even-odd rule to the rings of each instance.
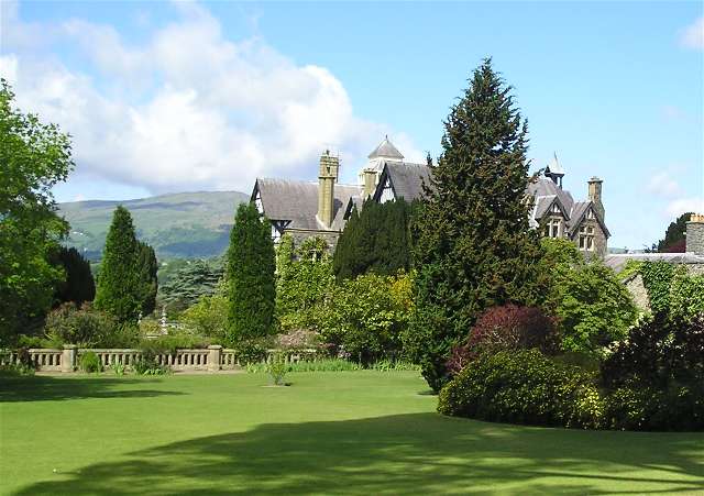
[[596, 428], [603, 401], [593, 374], [538, 350], [485, 353], [440, 392], [438, 411], [496, 422]]

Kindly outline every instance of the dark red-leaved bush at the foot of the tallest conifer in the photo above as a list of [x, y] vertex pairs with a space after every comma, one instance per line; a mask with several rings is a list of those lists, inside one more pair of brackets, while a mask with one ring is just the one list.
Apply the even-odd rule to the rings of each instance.
[[480, 353], [531, 348], [546, 354], [558, 351], [553, 319], [535, 307], [493, 307], [479, 318], [466, 342], [452, 349], [446, 365], [455, 375]]

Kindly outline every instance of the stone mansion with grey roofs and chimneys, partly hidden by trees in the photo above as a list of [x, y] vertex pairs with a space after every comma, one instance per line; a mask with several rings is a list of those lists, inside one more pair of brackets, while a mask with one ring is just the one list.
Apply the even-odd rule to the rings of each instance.
[[[318, 181], [257, 178], [252, 201], [272, 222], [272, 238], [277, 241], [288, 233], [299, 243], [321, 236], [333, 246], [352, 210], [361, 209], [365, 199], [413, 201], [421, 197], [421, 185], [432, 174], [432, 166], [405, 162], [388, 137], [367, 158], [356, 185], [338, 183], [340, 159], [328, 151], [320, 156]], [[605, 256], [609, 232], [604, 221], [602, 180], [592, 177], [587, 198], [575, 201], [562, 189], [563, 177], [556, 155], [544, 174], [527, 185], [532, 199], [530, 225], [546, 236], [571, 240], [587, 256]]]

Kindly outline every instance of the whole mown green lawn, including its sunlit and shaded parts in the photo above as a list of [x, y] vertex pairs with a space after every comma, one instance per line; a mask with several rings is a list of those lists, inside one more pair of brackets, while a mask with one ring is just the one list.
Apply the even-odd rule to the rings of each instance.
[[704, 433], [444, 418], [417, 373], [0, 379], [3, 494], [704, 493]]

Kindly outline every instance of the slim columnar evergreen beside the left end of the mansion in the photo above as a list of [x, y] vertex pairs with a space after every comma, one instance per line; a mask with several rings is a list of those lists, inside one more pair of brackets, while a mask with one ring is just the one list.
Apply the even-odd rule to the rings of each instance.
[[271, 224], [253, 203], [238, 207], [230, 234], [227, 274], [230, 288], [230, 341], [274, 330], [276, 287]]

